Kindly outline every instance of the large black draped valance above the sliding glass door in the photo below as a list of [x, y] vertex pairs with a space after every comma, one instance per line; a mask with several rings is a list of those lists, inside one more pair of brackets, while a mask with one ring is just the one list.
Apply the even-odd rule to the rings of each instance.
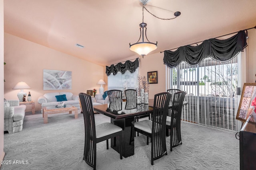
[[164, 51], [164, 64], [169, 68], [175, 68], [182, 61], [189, 65], [197, 65], [204, 58], [211, 57], [217, 61], [228, 61], [246, 47], [246, 33], [239, 31], [236, 35], [220, 40], [208, 39], [198, 46], [186, 45], [176, 51]]

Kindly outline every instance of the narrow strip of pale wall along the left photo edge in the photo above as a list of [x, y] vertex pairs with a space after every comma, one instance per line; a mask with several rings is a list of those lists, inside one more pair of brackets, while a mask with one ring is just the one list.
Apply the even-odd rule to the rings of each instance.
[[[4, 62], [4, 0], [0, 0], [0, 63]], [[0, 96], [4, 98], [4, 66], [0, 67]], [[4, 159], [4, 100], [0, 100], [0, 161]], [[1, 167], [1, 164], [0, 164]]]

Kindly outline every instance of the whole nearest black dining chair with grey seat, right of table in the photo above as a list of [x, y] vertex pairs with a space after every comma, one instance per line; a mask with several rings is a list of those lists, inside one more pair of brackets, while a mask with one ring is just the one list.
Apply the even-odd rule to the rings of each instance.
[[162, 92], [155, 94], [154, 96], [154, 108], [151, 120], [142, 120], [132, 123], [132, 131], [130, 137], [130, 143], [134, 140], [136, 131], [146, 135], [147, 145], [148, 138], [151, 138], [151, 164], [154, 164], [154, 160], [161, 158], [164, 154], [167, 155], [166, 150], [166, 116], [168, 112], [168, 106], [172, 94], [169, 92]]

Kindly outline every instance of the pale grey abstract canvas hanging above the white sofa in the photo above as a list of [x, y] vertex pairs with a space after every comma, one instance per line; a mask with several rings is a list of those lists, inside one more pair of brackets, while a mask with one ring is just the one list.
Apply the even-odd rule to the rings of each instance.
[[72, 71], [44, 69], [44, 90], [71, 90]]

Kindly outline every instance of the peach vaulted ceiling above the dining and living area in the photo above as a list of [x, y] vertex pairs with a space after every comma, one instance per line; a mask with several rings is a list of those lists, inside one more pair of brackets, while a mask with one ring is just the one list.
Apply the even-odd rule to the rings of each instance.
[[[150, 0], [144, 10], [153, 53], [256, 25], [256, 0]], [[140, 57], [140, 0], [4, 0], [4, 32], [102, 66]], [[76, 47], [76, 43], [84, 48]], [[162, 53], [164, 55], [164, 53]]]

